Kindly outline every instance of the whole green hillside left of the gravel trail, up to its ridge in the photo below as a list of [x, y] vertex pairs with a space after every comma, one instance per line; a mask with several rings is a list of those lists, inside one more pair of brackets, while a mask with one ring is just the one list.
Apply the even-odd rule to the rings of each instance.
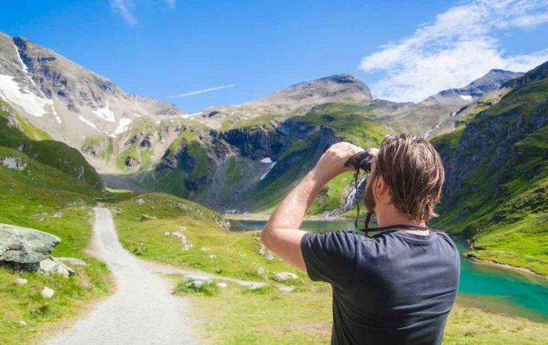
[[[54, 234], [61, 238], [55, 257], [87, 262], [73, 267], [77, 274], [70, 278], [0, 267], [0, 344], [29, 344], [45, 324], [74, 316], [84, 303], [111, 291], [106, 266], [84, 252], [91, 237], [91, 207], [103, 192], [95, 170], [78, 151], [49, 140], [1, 105], [0, 161], [9, 158], [19, 169], [0, 164], [0, 222]], [[83, 174], [75, 165], [83, 167]], [[29, 282], [16, 284], [17, 277]], [[45, 286], [55, 290], [52, 299], [41, 297]]]

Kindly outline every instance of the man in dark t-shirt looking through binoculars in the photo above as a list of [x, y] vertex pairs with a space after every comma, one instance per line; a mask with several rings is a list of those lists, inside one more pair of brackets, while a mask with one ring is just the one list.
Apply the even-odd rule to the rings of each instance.
[[380, 227], [373, 237], [350, 231], [298, 230], [322, 187], [349, 171], [360, 153], [350, 143], [327, 150], [268, 220], [261, 240], [270, 251], [333, 287], [332, 344], [440, 344], [460, 274], [455, 243], [426, 227], [435, 216], [444, 170], [426, 140], [387, 135], [365, 187], [365, 206]]

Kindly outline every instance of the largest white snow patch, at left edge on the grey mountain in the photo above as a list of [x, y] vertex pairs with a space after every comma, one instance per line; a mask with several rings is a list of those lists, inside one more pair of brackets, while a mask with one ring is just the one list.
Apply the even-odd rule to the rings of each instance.
[[23, 108], [30, 115], [41, 118], [47, 113], [44, 106], [49, 104], [49, 100], [36, 96], [29, 91], [21, 92], [19, 84], [14, 81], [14, 77], [0, 74], [0, 94], [11, 103], [15, 103]]

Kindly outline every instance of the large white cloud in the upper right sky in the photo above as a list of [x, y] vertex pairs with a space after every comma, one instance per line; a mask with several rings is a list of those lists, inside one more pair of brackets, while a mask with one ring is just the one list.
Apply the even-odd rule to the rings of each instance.
[[509, 56], [497, 34], [548, 23], [548, 0], [477, 0], [438, 14], [433, 23], [380, 47], [359, 68], [383, 72], [370, 86], [375, 97], [422, 101], [446, 88], [465, 86], [492, 68], [527, 71], [548, 60], [548, 48]]

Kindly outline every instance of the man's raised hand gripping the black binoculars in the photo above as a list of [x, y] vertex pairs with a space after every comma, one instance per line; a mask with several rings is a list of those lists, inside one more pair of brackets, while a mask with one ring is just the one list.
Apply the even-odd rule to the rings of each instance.
[[323, 153], [314, 167], [315, 176], [319, 180], [318, 182], [324, 185], [330, 180], [333, 180], [333, 178], [341, 172], [352, 171], [353, 169], [351, 167], [345, 167], [345, 163], [352, 158], [352, 156], [357, 155], [362, 151], [362, 148], [344, 141], [332, 145]]

